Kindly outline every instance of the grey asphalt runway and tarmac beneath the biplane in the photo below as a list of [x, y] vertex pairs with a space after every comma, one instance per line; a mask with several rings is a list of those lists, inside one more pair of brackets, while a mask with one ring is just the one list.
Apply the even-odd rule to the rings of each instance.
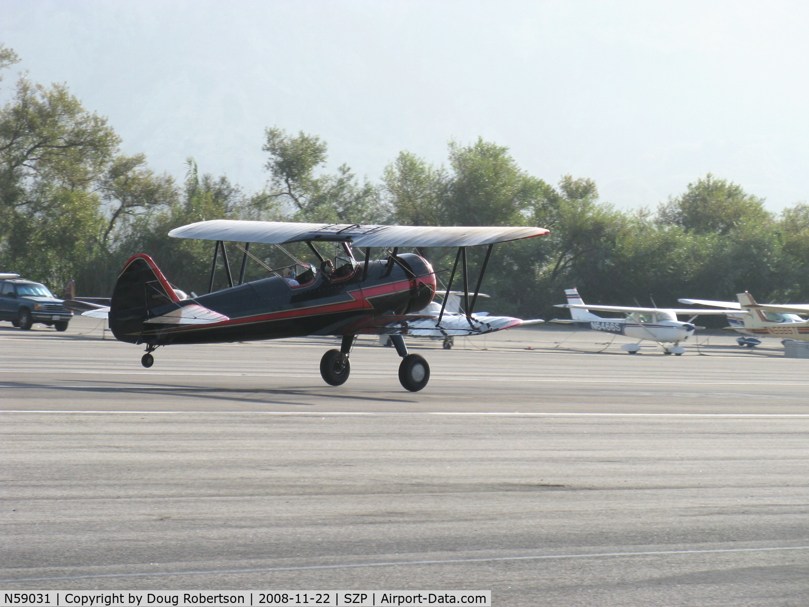
[[[172, 346], [0, 325], [0, 588], [491, 590], [493, 605], [809, 605], [809, 360], [513, 329]], [[612, 341], [611, 341], [612, 340]]]

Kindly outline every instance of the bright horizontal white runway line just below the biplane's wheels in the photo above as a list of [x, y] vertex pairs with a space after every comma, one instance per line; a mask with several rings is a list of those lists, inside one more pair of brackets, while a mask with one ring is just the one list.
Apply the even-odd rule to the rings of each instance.
[[616, 418], [809, 418], [809, 413], [552, 413], [552, 412], [520, 412], [520, 411], [109, 411], [94, 409], [71, 410], [24, 410], [3, 409], [4, 413], [44, 413], [44, 414], [115, 414], [115, 415], [490, 415], [503, 417], [616, 417]]

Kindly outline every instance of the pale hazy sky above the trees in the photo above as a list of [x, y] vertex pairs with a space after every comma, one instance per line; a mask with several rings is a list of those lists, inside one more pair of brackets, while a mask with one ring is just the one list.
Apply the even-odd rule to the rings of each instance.
[[0, 0], [0, 42], [177, 176], [193, 156], [260, 188], [270, 125], [372, 180], [401, 150], [443, 163], [482, 136], [616, 206], [713, 172], [780, 210], [809, 201], [807, 18], [762, 0]]

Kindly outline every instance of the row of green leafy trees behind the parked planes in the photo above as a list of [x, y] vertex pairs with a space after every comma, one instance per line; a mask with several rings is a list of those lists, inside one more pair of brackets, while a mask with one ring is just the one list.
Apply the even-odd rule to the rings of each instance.
[[[17, 61], [0, 46], [0, 79]], [[78, 295], [108, 295], [123, 262], [149, 253], [177, 287], [204, 293], [213, 243], [167, 231], [227, 218], [548, 227], [549, 236], [497, 245], [489, 262], [486, 308], [515, 316], [555, 316], [553, 304], [574, 286], [600, 304], [667, 306], [741, 291], [809, 301], [809, 205], [773, 214], [764, 199], [711, 174], [654, 210], [619, 210], [599, 199], [593, 180], [551, 184], [482, 138], [450, 142], [442, 165], [402, 151], [374, 181], [346, 164], [329, 171], [328, 146], [317, 135], [270, 127], [266, 184], [247, 193], [193, 159], [178, 182], [144, 155], [125, 155], [108, 120], [64, 84], [23, 75], [10, 87], [0, 80], [0, 94], [0, 271], [55, 292], [74, 279]], [[233, 260], [238, 250], [228, 246]], [[252, 253], [270, 267], [286, 259], [269, 245]], [[422, 253], [446, 281], [451, 252]], [[473, 269], [482, 257], [470, 252]], [[251, 262], [248, 279], [265, 275]]]

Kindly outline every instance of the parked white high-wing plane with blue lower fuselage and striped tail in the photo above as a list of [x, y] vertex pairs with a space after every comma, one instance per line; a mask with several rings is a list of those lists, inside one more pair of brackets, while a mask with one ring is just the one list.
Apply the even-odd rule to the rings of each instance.
[[[663, 347], [663, 354], [680, 356], [685, 351], [680, 342], [685, 342], [697, 329], [693, 320], [702, 314], [727, 314], [735, 310], [700, 310], [675, 308], [628, 308], [625, 306], [599, 306], [585, 304], [578, 295], [578, 289], [565, 289], [567, 304], [557, 304], [557, 308], [570, 308], [570, 320], [557, 318], [551, 322], [562, 324], [585, 325], [595, 331], [616, 333], [634, 339], [648, 342], [657, 342]], [[589, 310], [602, 312], [622, 312], [624, 318], [602, 318]], [[677, 315], [691, 316], [687, 322], [677, 320]], [[621, 346], [629, 354], [637, 354], [641, 349], [639, 344], [628, 343]]]

